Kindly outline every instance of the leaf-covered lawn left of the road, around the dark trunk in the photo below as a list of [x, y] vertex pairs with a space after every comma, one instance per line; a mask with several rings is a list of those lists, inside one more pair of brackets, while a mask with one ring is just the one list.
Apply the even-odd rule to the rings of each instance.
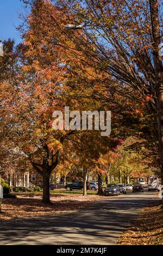
[[16, 199], [6, 198], [2, 201], [0, 221], [13, 218], [52, 216], [61, 212], [82, 209], [92, 201], [101, 200], [96, 194], [83, 197], [81, 194], [51, 194], [50, 205], [41, 203], [41, 193], [16, 193]]

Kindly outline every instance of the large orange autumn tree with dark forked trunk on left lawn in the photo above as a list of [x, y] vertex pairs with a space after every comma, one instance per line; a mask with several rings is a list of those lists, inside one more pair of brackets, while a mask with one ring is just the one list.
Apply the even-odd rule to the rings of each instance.
[[[42, 3], [44, 1], [41, 1]], [[39, 3], [41, 3], [39, 2]], [[15, 103], [15, 145], [28, 157], [35, 171], [43, 178], [43, 203], [50, 203], [49, 178], [59, 163], [60, 152], [65, 139], [72, 130], [54, 130], [53, 112], [64, 112], [65, 101], [60, 97], [63, 76], [66, 72], [61, 66], [61, 52], [54, 41], [55, 31], [41, 25], [46, 14], [48, 2], [40, 8], [38, 1], [27, 18], [20, 49], [19, 91]], [[51, 6], [50, 6], [51, 8]], [[52, 9], [51, 9], [52, 10]], [[53, 9], [51, 15], [61, 14]], [[38, 30], [39, 29], [39, 30]]]

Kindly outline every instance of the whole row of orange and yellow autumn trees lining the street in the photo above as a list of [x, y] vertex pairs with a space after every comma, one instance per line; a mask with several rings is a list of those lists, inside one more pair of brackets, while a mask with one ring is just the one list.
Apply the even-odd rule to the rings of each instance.
[[[50, 203], [49, 177], [61, 166], [82, 168], [85, 195], [88, 169], [102, 184], [103, 172], [109, 177], [120, 166], [127, 177], [157, 165], [162, 69], [156, 28], [162, 27], [151, 17], [158, 14], [160, 1], [24, 3], [30, 14], [19, 27], [23, 42], [16, 47], [12, 40], [4, 42], [0, 59], [1, 165], [17, 148], [43, 178], [43, 203]], [[87, 27], [67, 31], [68, 23]], [[111, 110], [111, 135], [54, 130], [53, 112], [64, 112], [65, 106], [80, 112]], [[136, 140], [126, 153], [122, 145], [130, 136]]]

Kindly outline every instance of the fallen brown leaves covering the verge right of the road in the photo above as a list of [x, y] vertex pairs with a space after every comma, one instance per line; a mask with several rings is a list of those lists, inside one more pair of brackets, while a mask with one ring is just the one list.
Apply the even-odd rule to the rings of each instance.
[[118, 245], [163, 245], [163, 210], [156, 204], [142, 209], [133, 227], [122, 234]]

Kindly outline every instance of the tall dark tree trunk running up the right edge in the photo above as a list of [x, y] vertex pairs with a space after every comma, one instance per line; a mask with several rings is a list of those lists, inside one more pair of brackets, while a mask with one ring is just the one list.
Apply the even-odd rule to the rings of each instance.
[[[155, 72], [155, 89], [156, 89], [156, 110], [158, 122], [159, 152], [161, 164], [161, 184], [163, 184], [163, 67], [162, 58], [159, 56], [160, 40], [160, 24], [158, 12], [158, 0], [149, 0], [151, 8], [152, 23], [152, 45], [154, 48], [154, 72]], [[162, 198], [163, 203], [163, 198]]]

